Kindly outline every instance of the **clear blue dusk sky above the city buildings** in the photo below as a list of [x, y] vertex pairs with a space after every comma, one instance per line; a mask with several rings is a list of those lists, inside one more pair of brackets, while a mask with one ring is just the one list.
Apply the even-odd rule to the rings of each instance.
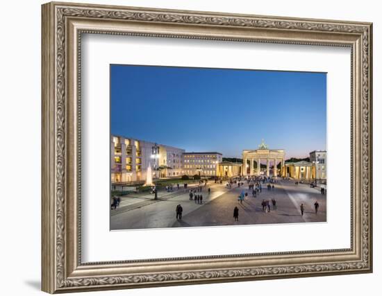
[[110, 66], [111, 133], [241, 157], [326, 150], [326, 73]]

